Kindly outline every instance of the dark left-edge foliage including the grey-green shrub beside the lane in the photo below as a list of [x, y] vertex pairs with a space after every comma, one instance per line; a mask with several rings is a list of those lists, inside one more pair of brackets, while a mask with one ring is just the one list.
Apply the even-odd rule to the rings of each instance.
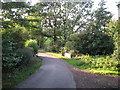
[[5, 72], [6, 70], [9, 71], [10, 69], [17, 68], [18, 66], [28, 64], [34, 53], [34, 51], [32, 52], [32, 50], [28, 48], [18, 49], [21, 45], [19, 37], [20, 33], [18, 33], [17, 30], [12, 30], [13, 31], [7, 29], [2, 32], [2, 62]]

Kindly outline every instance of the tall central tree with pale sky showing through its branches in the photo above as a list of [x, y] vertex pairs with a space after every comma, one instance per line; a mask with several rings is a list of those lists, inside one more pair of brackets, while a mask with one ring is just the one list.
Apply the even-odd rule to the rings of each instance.
[[[60, 45], [64, 46], [71, 34], [86, 26], [84, 19], [90, 15], [92, 2], [47, 2], [36, 4], [35, 8], [39, 7], [41, 7], [39, 13], [44, 17], [44, 21], [41, 22], [42, 36], [51, 38], [52, 46], [56, 46], [60, 40], [63, 42]], [[82, 25], [80, 25], [81, 23]], [[74, 31], [76, 26], [79, 26], [79, 29]]]

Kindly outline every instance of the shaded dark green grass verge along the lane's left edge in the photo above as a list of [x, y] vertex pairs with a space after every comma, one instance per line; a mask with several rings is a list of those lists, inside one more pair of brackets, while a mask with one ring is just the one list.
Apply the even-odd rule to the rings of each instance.
[[41, 66], [41, 59], [36, 58], [36, 61], [24, 66], [21, 70], [15, 70], [13, 73], [3, 73], [3, 88], [11, 88], [33, 74]]

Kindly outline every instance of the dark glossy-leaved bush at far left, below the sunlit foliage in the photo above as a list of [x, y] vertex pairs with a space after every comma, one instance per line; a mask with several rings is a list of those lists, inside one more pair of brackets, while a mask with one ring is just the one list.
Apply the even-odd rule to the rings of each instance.
[[3, 30], [2, 34], [3, 69], [9, 71], [21, 62], [22, 56], [16, 52], [18, 43], [12, 37], [13, 33], [9, 33], [9, 30], [6, 32]]

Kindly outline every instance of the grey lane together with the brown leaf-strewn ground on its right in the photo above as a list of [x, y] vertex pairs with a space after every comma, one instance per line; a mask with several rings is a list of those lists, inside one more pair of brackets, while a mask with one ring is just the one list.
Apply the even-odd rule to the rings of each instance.
[[80, 70], [55, 56], [38, 53], [42, 66], [15, 88], [120, 88], [119, 76]]

